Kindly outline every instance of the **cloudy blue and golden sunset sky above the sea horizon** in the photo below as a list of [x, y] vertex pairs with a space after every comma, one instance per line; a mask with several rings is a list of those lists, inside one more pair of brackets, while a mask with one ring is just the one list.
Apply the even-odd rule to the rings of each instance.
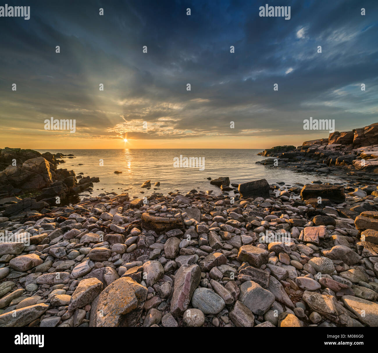
[[378, 122], [376, 0], [5, 3], [30, 19], [0, 17], [0, 148], [263, 149], [328, 137], [310, 117]]

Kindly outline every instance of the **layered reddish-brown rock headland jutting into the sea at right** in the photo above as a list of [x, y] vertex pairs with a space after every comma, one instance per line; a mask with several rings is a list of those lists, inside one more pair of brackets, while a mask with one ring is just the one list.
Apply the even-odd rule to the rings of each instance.
[[328, 138], [305, 141], [298, 147], [272, 147], [258, 155], [272, 157], [256, 162], [266, 166], [377, 184], [378, 123], [352, 131], [336, 131]]

